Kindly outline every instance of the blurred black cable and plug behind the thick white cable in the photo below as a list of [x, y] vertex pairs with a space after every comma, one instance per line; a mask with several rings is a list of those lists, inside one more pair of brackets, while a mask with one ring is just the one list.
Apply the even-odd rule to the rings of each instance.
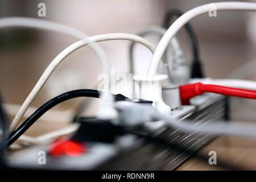
[[[177, 9], [169, 10], [166, 16], [164, 16], [163, 27], [169, 28], [172, 18], [174, 16], [179, 17], [181, 15], [183, 15], [183, 12], [180, 10], [177, 10]], [[193, 31], [191, 24], [189, 23], [185, 24], [185, 30], [187, 31], [187, 34], [189, 36], [189, 42], [191, 44], [192, 56], [193, 56], [192, 65], [191, 65], [191, 78], [203, 78], [204, 73], [203, 73], [202, 63], [199, 56], [199, 45], [197, 42], [196, 34]]]

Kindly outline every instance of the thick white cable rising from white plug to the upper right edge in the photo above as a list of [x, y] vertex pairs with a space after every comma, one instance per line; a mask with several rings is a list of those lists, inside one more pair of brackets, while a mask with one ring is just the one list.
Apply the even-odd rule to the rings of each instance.
[[210, 11], [224, 11], [224, 10], [245, 10], [245, 11], [256, 11], [256, 3], [249, 2], [217, 2], [209, 3], [207, 5], [196, 7], [192, 10], [187, 11], [179, 18], [176, 19], [174, 23], [168, 28], [166, 34], [160, 40], [158, 46], [156, 47], [155, 53], [151, 59], [150, 66], [148, 67], [148, 76], [156, 75], [158, 65], [160, 60], [166, 51], [166, 48], [172, 38], [174, 38], [177, 31], [188, 23], [189, 20], [196, 18], [199, 15], [210, 13]]

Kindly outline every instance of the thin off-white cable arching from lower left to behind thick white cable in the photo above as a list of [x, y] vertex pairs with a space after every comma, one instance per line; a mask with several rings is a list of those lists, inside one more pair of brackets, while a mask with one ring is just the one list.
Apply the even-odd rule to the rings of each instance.
[[[155, 46], [148, 42], [146, 39], [141, 38], [140, 36], [133, 35], [133, 34], [125, 34], [125, 33], [115, 33], [115, 34], [102, 34], [102, 35], [96, 35], [89, 38], [86, 38], [85, 40], [80, 40], [76, 43], [73, 43], [71, 46], [67, 47], [55, 57], [55, 59], [51, 62], [51, 64], [48, 65], [46, 70], [44, 71], [43, 75], [39, 78], [38, 82], [28, 94], [28, 97], [23, 102], [22, 106], [20, 107], [18, 113], [15, 115], [13, 122], [10, 125], [10, 130], [13, 131], [18, 126], [20, 120], [22, 119], [24, 113], [28, 109], [28, 107], [31, 105], [32, 101], [36, 97], [36, 95], [39, 93], [39, 91], [42, 89], [43, 85], [46, 83], [49, 76], [51, 76], [52, 72], [55, 70], [57, 65], [61, 63], [72, 52], [76, 51], [76, 49], [79, 49], [83, 46], [88, 45], [91, 42], [101, 42], [105, 40], [131, 40], [134, 42], [138, 42], [146, 46], [148, 49], [150, 49], [151, 52], [155, 51]], [[109, 74], [108, 74], [109, 75]], [[110, 77], [109, 77], [110, 78]], [[109, 79], [110, 81], [110, 79]], [[109, 84], [110, 85], [110, 84]]]

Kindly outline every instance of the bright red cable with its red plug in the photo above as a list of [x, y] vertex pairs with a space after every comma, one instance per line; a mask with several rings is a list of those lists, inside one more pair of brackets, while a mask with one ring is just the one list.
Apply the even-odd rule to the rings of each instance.
[[220, 85], [204, 85], [200, 82], [180, 86], [180, 98], [183, 105], [188, 105], [192, 97], [200, 96], [205, 92], [218, 93], [225, 96], [256, 99], [255, 90], [231, 88]]

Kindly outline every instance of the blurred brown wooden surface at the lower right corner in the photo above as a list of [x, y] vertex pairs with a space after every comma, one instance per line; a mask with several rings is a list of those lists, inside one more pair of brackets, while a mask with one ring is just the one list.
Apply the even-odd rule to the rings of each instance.
[[[210, 165], [208, 161], [191, 157], [176, 168], [176, 170], [205, 171], [231, 170], [234, 168], [256, 170], [256, 140], [237, 137], [218, 137], [201, 148], [197, 153], [209, 156], [209, 151], [216, 151], [217, 165]], [[234, 168], [221, 167], [221, 162], [225, 162]]]

